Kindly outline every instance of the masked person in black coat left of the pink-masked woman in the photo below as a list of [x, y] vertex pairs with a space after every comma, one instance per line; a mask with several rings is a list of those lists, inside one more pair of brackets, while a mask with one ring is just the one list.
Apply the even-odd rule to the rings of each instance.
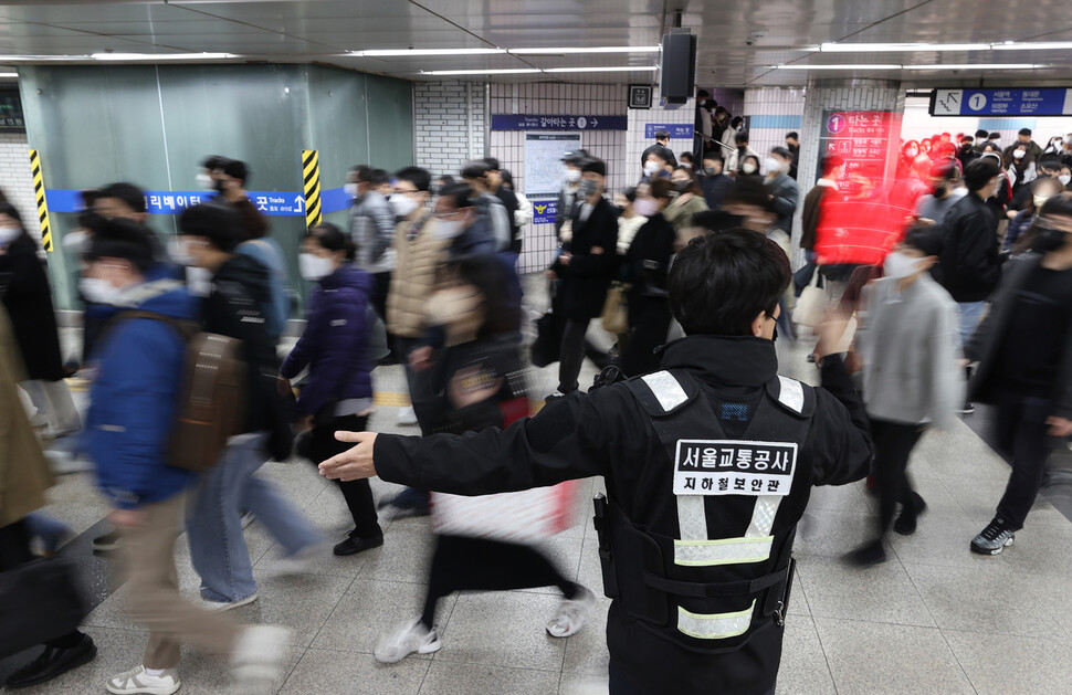
[[577, 378], [585, 359], [585, 334], [591, 319], [602, 313], [618, 268], [618, 212], [603, 198], [607, 165], [592, 157], [581, 164], [581, 171], [579, 204], [570, 217], [571, 236], [548, 268], [548, 275], [560, 281], [556, 302], [565, 319], [558, 362], [561, 394], [580, 386]]

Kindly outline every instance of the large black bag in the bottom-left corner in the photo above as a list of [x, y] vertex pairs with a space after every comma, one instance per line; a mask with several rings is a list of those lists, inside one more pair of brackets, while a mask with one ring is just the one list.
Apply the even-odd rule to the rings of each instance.
[[32, 560], [0, 572], [0, 659], [70, 634], [88, 613], [66, 559]]

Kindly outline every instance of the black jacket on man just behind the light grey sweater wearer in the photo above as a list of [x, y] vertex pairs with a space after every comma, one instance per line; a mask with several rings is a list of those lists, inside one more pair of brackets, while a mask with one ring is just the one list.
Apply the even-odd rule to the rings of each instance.
[[998, 221], [989, 206], [968, 193], [946, 212], [935, 277], [957, 302], [985, 302], [1001, 280]]

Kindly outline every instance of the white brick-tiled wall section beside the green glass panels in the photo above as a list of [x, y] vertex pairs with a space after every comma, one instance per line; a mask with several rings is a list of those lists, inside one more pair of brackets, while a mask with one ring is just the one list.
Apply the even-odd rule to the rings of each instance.
[[484, 89], [456, 80], [413, 84], [417, 166], [433, 177], [456, 175], [463, 162], [484, 156]]

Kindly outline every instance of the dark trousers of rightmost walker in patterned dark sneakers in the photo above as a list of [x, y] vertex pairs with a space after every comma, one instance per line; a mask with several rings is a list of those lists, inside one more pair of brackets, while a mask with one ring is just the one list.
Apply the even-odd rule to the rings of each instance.
[[998, 516], [1019, 530], [1039, 495], [1045, 461], [1060, 441], [1047, 432], [1045, 420], [1052, 412], [1048, 399], [1008, 391], [997, 396], [994, 430], [998, 451], [1012, 463], [1009, 484], [998, 503]]

